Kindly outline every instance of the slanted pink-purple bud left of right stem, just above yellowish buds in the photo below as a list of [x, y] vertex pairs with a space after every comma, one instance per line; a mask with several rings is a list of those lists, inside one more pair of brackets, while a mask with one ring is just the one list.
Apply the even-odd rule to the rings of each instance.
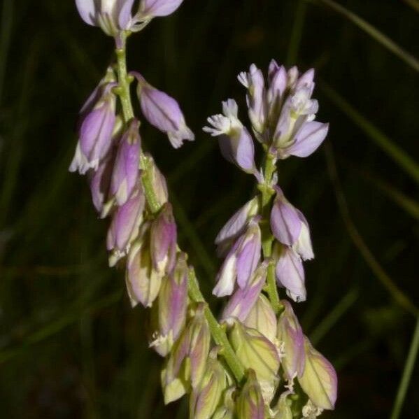
[[233, 322], [237, 318], [241, 322], [248, 317], [250, 311], [260, 296], [260, 292], [267, 280], [267, 266], [269, 262], [262, 262], [260, 267], [253, 273], [248, 285], [244, 288], [237, 288], [233, 296], [229, 299], [227, 306], [222, 311], [222, 320]]

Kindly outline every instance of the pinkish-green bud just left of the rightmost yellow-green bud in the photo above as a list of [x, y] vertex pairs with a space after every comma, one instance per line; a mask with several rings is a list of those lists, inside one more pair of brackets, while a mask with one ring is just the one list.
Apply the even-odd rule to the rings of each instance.
[[289, 301], [281, 301], [285, 310], [278, 319], [278, 341], [284, 357], [281, 359], [288, 381], [301, 376], [304, 371], [304, 334]]

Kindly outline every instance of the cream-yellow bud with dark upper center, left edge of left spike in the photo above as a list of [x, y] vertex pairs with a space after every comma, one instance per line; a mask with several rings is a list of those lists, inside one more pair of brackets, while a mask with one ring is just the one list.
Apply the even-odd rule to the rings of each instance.
[[151, 307], [162, 284], [164, 274], [152, 266], [149, 225], [143, 225], [139, 239], [129, 250], [125, 280], [132, 306], [141, 303]]

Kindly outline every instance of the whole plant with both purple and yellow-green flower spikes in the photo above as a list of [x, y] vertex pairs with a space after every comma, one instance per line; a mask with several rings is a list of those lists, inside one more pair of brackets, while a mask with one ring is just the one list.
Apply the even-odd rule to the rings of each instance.
[[213, 294], [227, 298], [217, 320], [178, 246], [166, 180], [134, 115], [132, 83], [143, 120], [174, 148], [194, 134], [177, 101], [126, 65], [127, 38], [182, 2], [76, 0], [87, 24], [115, 38], [115, 61], [80, 111], [70, 170], [87, 174], [99, 217], [111, 218], [109, 265], [125, 267], [132, 306], [150, 308], [150, 348], [164, 358], [164, 401], [188, 395], [190, 418], [197, 419], [315, 418], [334, 409], [337, 378], [293, 310], [307, 298], [303, 262], [314, 253], [308, 222], [277, 172], [280, 160], [308, 157], [327, 135], [328, 125], [315, 120], [314, 71], [285, 69], [273, 59], [264, 75], [252, 64], [238, 77], [250, 125], [227, 99], [204, 127], [218, 137], [222, 156], [257, 185], [215, 238], [222, 264]]

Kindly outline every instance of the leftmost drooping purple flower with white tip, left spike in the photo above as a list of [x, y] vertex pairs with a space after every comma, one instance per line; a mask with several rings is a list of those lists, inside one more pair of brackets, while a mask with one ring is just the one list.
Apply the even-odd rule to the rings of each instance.
[[97, 170], [99, 162], [111, 149], [115, 127], [115, 95], [112, 88], [115, 85], [116, 83], [108, 83], [101, 87], [100, 99], [85, 115], [70, 171], [78, 170], [84, 175], [89, 169]]

